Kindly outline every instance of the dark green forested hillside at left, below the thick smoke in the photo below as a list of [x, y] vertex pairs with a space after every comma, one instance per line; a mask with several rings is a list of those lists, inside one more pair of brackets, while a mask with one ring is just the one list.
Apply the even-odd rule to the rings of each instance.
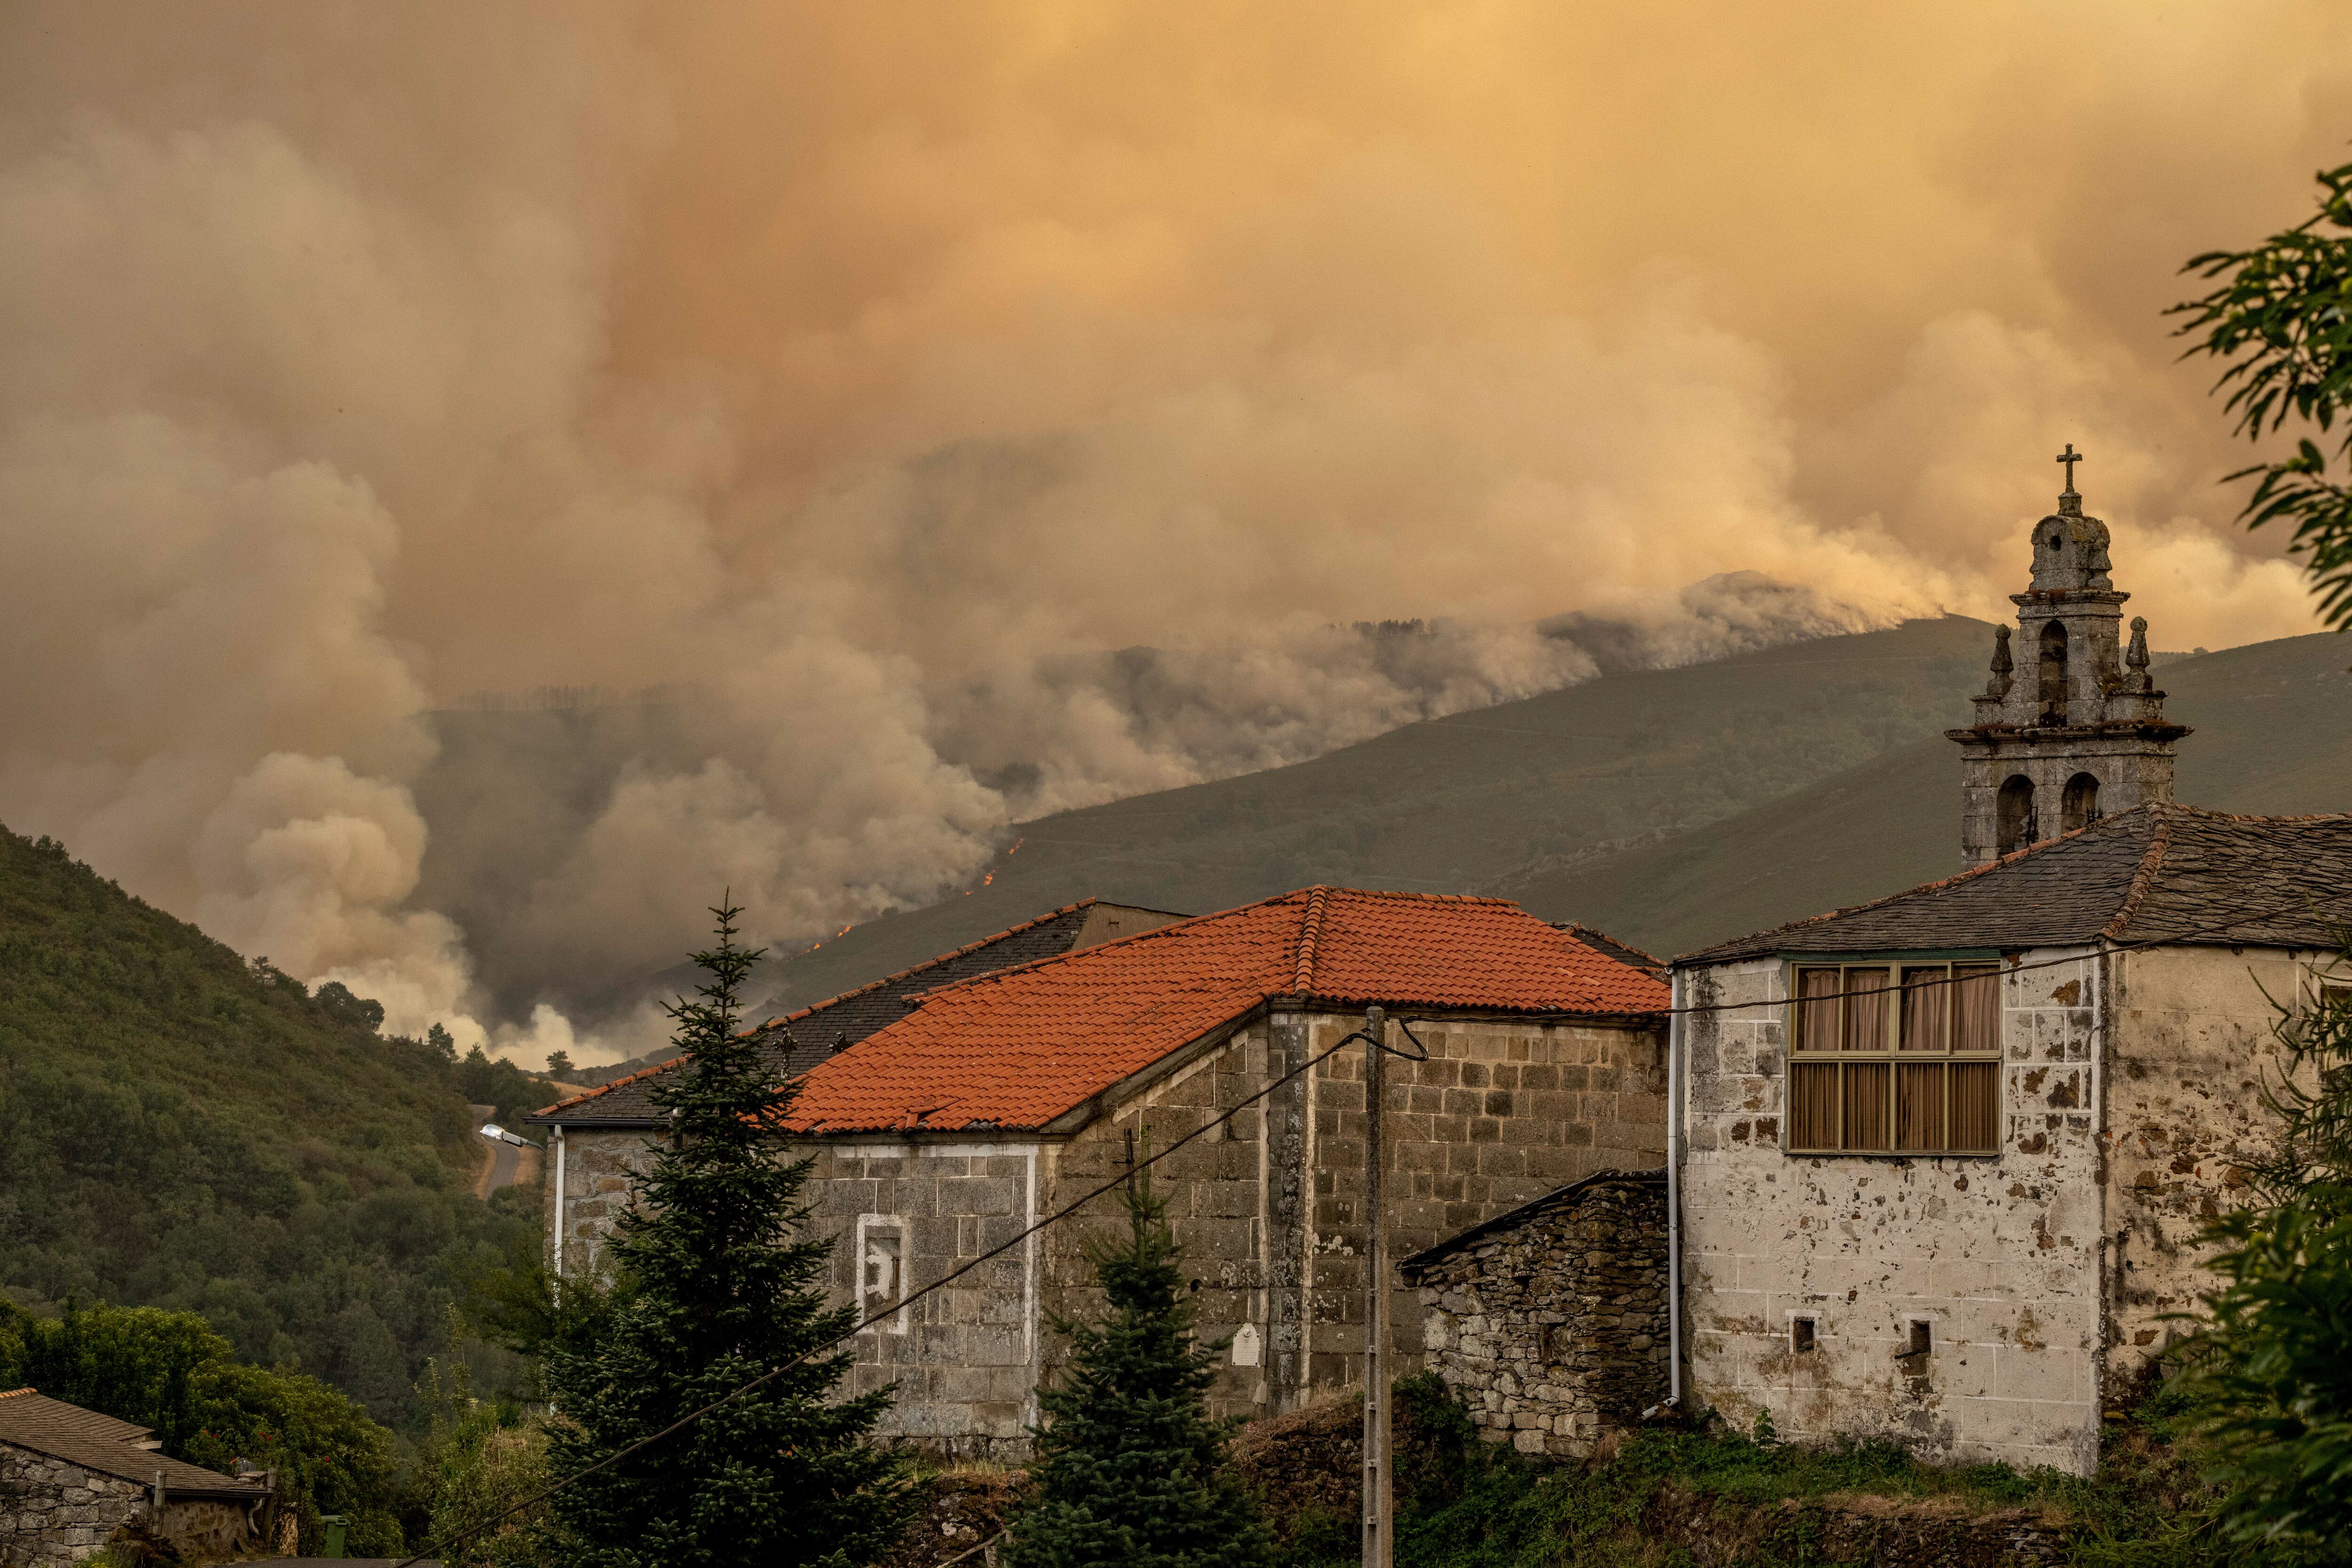
[[0, 1291], [195, 1309], [397, 1420], [463, 1272], [536, 1234], [473, 1197], [466, 1103], [553, 1095], [376, 1018], [0, 830]]

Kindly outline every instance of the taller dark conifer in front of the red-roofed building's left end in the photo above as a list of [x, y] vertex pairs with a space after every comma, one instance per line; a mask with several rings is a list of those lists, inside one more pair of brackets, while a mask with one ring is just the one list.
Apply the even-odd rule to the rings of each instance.
[[776, 1150], [771, 1124], [793, 1091], [736, 1030], [760, 952], [736, 945], [736, 907], [713, 914], [720, 943], [694, 954], [710, 980], [670, 1006], [687, 1056], [654, 1093], [670, 1135], [616, 1225], [600, 1331], [548, 1349], [553, 1469], [576, 1472], [814, 1354], [557, 1493], [557, 1509], [590, 1568], [866, 1563], [896, 1544], [913, 1507], [906, 1462], [870, 1441], [891, 1392], [833, 1399], [849, 1356], [826, 1347], [856, 1312], [826, 1307], [833, 1241], [807, 1234], [800, 1197], [811, 1161]]

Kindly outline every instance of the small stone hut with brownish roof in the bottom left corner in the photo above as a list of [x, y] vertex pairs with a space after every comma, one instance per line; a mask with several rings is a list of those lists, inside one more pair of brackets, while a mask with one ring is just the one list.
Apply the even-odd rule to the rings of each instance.
[[0, 1563], [59, 1568], [136, 1528], [191, 1563], [259, 1549], [270, 1488], [158, 1453], [148, 1427], [33, 1389], [0, 1394]]

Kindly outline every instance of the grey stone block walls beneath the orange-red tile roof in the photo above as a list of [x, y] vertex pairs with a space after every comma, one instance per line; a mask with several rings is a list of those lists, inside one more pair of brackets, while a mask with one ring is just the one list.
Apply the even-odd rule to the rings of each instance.
[[[1362, 1023], [1272, 1013], [1141, 1074], [1061, 1138], [844, 1135], [804, 1145], [814, 1225], [835, 1237], [837, 1302], [887, 1307], [1127, 1168], [1242, 1107]], [[1402, 1258], [1604, 1168], [1665, 1159], [1656, 1025], [1442, 1018], [1430, 1060], [1388, 1065], [1390, 1255]], [[1395, 1037], [1402, 1044], [1402, 1037]], [[1218, 1415], [1291, 1410], [1359, 1380], [1362, 1048], [1350, 1046], [1155, 1168], [1185, 1248], [1200, 1333], [1232, 1340]], [[642, 1131], [572, 1131], [564, 1272], [588, 1267], [647, 1159]], [[953, 1288], [856, 1335], [854, 1385], [898, 1385], [884, 1429], [960, 1460], [1018, 1462], [1033, 1389], [1058, 1359], [1051, 1316], [1098, 1309], [1087, 1239], [1122, 1225], [1098, 1199]], [[889, 1274], [877, 1295], [880, 1276]], [[896, 1293], [896, 1295], [891, 1295]], [[1397, 1371], [1421, 1356], [1411, 1291], [1390, 1305]]]

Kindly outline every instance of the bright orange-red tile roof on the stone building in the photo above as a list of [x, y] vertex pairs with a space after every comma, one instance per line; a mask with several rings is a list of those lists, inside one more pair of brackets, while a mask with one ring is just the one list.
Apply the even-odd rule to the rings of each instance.
[[1503, 898], [1305, 889], [946, 985], [800, 1079], [800, 1133], [1037, 1128], [1272, 997], [1625, 1016], [1665, 985]]

